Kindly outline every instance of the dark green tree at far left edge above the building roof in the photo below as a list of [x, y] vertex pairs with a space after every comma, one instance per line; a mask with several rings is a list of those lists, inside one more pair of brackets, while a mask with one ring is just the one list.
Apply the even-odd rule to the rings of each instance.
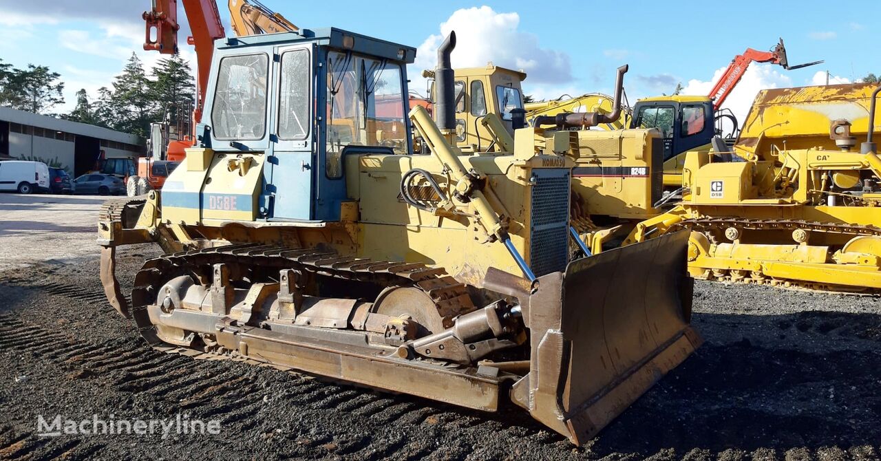
[[26, 69], [9, 70], [9, 64], [3, 64], [0, 71], [3, 75], [3, 91], [0, 103], [11, 108], [28, 110], [35, 114], [45, 113], [48, 109], [64, 103], [64, 83], [61, 74], [49, 71], [44, 65], [27, 64]]

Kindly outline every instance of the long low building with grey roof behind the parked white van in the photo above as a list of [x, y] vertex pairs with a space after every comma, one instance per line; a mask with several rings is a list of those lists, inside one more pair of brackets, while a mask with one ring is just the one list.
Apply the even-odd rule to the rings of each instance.
[[0, 159], [39, 160], [77, 176], [101, 158], [135, 158], [143, 152], [143, 140], [129, 133], [0, 108]]

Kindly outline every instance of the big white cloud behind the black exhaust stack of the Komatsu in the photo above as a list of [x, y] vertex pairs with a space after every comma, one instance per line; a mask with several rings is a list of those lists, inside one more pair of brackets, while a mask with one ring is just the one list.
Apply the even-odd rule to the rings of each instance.
[[[520, 15], [501, 13], [489, 6], [456, 10], [441, 23], [441, 33], [429, 36], [419, 46], [414, 67], [433, 69], [437, 48], [450, 31], [455, 30], [456, 46], [453, 67], [496, 65], [522, 70], [533, 84], [559, 85], [572, 80], [569, 56], [561, 51], [541, 48], [532, 33], [519, 30]], [[417, 75], [411, 72], [411, 75]], [[414, 85], [415, 88], [421, 85]]]

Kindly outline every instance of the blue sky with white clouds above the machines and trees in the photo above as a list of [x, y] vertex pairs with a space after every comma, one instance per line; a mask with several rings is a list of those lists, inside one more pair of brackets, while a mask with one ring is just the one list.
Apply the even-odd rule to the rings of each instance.
[[[630, 64], [626, 89], [634, 98], [670, 93], [677, 83], [686, 93], [705, 93], [714, 75], [745, 48], [772, 48], [786, 41], [790, 63], [825, 59], [796, 71], [755, 65], [732, 94], [738, 111], [749, 107], [762, 87], [803, 86], [825, 77], [853, 81], [881, 73], [873, 45], [881, 32], [872, 24], [881, 13], [878, 0], [855, 0], [840, 14], [828, 2], [581, 2], [553, 9], [552, 2], [365, 2], [337, 0], [315, 4], [263, 0], [301, 27], [337, 26], [419, 48], [415, 71], [433, 65], [441, 30], [455, 28], [459, 49], [454, 65], [482, 65], [488, 60], [524, 68], [525, 93], [555, 97], [561, 93], [610, 93], [618, 65]], [[797, 5], [797, 6], [796, 6]], [[140, 13], [149, 0], [0, 0], [0, 58], [16, 66], [45, 64], [63, 75], [70, 109], [73, 93], [93, 94], [109, 85], [132, 50], [149, 66], [159, 59], [140, 44]], [[226, 2], [219, 4], [229, 27]], [[181, 15], [181, 22], [183, 21]], [[186, 27], [185, 27], [186, 28]], [[181, 44], [186, 30], [181, 31]], [[185, 48], [185, 45], [182, 45]], [[193, 59], [187, 49], [184, 57]], [[414, 89], [421, 89], [414, 82]]]

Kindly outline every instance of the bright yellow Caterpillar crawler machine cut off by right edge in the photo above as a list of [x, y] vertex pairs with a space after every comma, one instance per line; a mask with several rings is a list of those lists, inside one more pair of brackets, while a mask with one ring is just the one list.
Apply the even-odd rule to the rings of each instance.
[[[627, 242], [689, 229], [689, 271], [704, 279], [881, 292], [881, 160], [866, 84], [765, 90], [736, 160], [689, 152], [684, 197]], [[857, 152], [857, 138], [865, 137]]]

